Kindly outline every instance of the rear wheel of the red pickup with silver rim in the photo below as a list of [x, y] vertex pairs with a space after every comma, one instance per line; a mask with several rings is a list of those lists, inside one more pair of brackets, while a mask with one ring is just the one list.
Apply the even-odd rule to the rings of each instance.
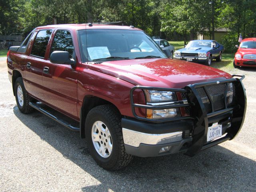
[[20, 112], [22, 113], [32, 112], [34, 108], [32, 108], [29, 105], [31, 97], [28, 95], [28, 92], [24, 87], [22, 77], [19, 77], [16, 79], [14, 91], [15, 91], [16, 103]]

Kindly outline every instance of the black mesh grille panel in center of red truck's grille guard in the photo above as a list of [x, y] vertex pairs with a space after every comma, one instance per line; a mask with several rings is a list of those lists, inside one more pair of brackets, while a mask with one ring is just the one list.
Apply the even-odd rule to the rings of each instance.
[[236, 86], [233, 82], [196, 88], [206, 113], [222, 110], [236, 103]]

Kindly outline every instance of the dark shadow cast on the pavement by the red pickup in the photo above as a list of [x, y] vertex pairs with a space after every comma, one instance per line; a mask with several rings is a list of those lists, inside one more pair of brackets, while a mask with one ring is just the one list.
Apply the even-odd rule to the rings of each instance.
[[[14, 114], [30, 130], [101, 184], [82, 191], [254, 191], [256, 162], [221, 146], [194, 157], [174, 154], [156, 158], [135, 157], [124, 170], [109, 172], [88, 154], [86, 141], [40, 112]], [[61, 143], [61, 145], [60, 145]]]

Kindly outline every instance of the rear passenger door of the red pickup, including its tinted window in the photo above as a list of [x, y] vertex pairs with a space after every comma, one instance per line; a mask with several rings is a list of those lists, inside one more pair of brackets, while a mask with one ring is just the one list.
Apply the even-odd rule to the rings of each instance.
[[40, 100], [44, 100], [42, 79], [44, 56], [51, 34], [50, 29], [36, 32], [31, 52], [26, 58], [26, 90]]

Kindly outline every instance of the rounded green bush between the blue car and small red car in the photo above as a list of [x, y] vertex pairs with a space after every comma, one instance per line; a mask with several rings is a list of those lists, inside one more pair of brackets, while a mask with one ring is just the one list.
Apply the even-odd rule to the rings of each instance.
[[228, 52], [228, 53], [236, 52], [237, 48], [235, 48], [235, 45], [239, 45], [237, 34], [228, 33], [222, 38], [220, 44], [224, 46], [225, 52]]

